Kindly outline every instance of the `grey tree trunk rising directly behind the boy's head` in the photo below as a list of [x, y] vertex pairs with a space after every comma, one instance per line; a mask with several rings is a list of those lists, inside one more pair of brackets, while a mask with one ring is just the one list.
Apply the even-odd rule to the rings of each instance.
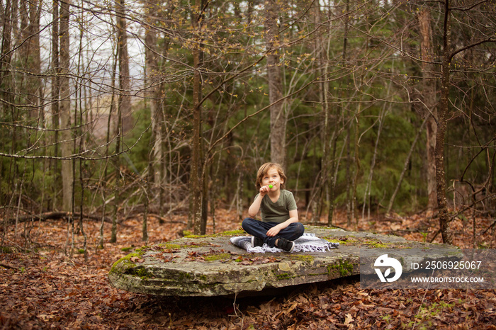
[[[267, 55], [267, 79], [269, 80], [269, 103], [280, 100], [283, 96], [281, 67], [279, 66], [278, 40], [278, 7], [276, 0], [266, 2], [266, 40], [269, 54]], [[271, 161], [286, 167], [286, 115], [283, 102], [271, 106]]]

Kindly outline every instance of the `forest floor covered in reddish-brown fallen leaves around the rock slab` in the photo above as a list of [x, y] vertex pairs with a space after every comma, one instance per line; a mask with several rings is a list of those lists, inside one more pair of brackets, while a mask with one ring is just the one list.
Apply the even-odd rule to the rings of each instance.
[[[300, 213], [300, 220], [305, 223], [305, 215]], [[148, 245], [178, 238], [186, 221], [186, 215], [168, 217], [164, 224], [150, 217]], [[474, 244], [473, 220], [458, 217], [451, 224], [454, 244], [495, 249], [493, 222], [475, 220]], [[239, 224], [235, 212], [216, 212], [216, 232]], [[430, 241], [439, 228], [425, 213], [347, 226], [338, 212], [334, 224], [417, 241]], [[99, 225], [84, 222], [86, 256], [79, 253], [83, 235], [73, 236], [64, 220], [0, 228], [0, 329], [496, 329], [496, 290], [362, 290], [356, 277], [237, 299], [117, 290], [109, 285], [108, 272], [130, 248], [144, 245], [142, 224], [125, 220], [115, 244], [108, 243], [110, 224], [105, 224], [103, 249], [96, 248]], [[441, 242], [440, 234], [434, 242]]]

